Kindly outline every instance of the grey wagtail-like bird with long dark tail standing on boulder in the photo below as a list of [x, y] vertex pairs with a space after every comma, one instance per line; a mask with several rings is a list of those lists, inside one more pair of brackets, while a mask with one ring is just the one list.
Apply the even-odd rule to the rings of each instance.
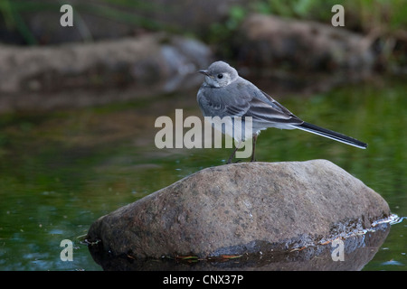
[[[243, 121], [246, 117], [251, 117], [252, 135], [236, 136], [233, 123], [230, 127], [232, 133], [222, 129], [223, 134], [232, 135], [238, 142], [245, 137], [252, 137], [251, 162], [255, 161], [255, 148], [260, 131], [269, 127], [300, 129], [361, 149], [367, 148], [367, 144], [353, 137], [312, 125], [295, 116], [249, 80], [241, 78], [238, 71], [224, 61], [214, 61], [207, 70], [198, 72], [204, 74], [204, 82], [196, 96], [204, 117], [241, 117]], [[232, 163], [238, 149], [239, 145], [236, 145], [227, 163]]]

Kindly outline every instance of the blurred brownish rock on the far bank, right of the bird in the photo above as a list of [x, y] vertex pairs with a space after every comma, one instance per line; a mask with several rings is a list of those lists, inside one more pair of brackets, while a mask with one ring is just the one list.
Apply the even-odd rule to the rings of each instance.
[[235, 37], [237, 58], [256, 67], [294, 70], [372, 70], [369, 37], [312, 21], [251, 14]]

